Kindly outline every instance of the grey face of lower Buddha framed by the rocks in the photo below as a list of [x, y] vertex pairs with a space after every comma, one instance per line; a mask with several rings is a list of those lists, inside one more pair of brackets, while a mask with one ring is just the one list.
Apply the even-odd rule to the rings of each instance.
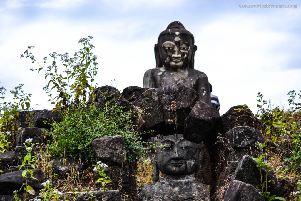
[[192, 174], [196, 168], [196, 153], [199, 144], [190, 142], [183, 135], [161, 136], [163, 147], [157, 148], [155, 160], [162, 174]]

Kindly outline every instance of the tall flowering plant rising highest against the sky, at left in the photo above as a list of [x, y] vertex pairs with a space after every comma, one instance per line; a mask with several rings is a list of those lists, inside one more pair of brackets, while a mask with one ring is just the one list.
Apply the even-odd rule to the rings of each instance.
[[[48, 101], [54, 104], [56, 108], [79, 105], [86, 101], [87, 93], [94, 89], [92, 83], [97, 74], [98, 63], [96, 62], [97, 55], [93, 55], [91, 52], [94, 49], [94, 46], [90, 43], [92, 39], [92, 36], [80, 39], [78, 43], [83, 47], [74, 53], [73, 58], [69, 57], [69, 53], [50, 53], [49, 56], [52, 62], [48, 66], [46, 66], [47, 57], [43, 58], [43, 65], [35, 59], [31, 53], [34, 46], [29, 46], [21, 54], [21, 58], [29, 57], [32, 63], [39, 65], [39, 68], [31, 68], [30, 70], [45, 72], [45, 80], [48, 84], [43, 87], [43, 90], [50, 97]], [[64, 70], [59, 68], [57, 58], [60, 58]], [[52, 95], [53, 90], [56, 90], [54, 92], [56, 93], [55, 96]]]

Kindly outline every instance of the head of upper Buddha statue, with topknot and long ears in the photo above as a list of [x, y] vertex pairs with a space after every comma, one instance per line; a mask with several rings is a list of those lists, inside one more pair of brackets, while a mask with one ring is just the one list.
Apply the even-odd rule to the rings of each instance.
[[196, 50], [193, 35], [180, 22], [172, 22], [155, 44], [156, 68], [163, 65], [169, 70], [194, 68]]

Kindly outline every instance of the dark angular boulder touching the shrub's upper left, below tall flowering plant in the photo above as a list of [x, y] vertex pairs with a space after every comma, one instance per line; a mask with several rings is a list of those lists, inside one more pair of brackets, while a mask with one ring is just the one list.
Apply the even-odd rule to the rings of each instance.
[[43, 121], [53, 122], [53, 121], [61, 121], [60, 110], [41, 110], [35, 113], [35, 118], [33, 120], [33, 127], [37, 128], [46, 128], [50, 129], [52, 126], [48, 124], [44, 124]]

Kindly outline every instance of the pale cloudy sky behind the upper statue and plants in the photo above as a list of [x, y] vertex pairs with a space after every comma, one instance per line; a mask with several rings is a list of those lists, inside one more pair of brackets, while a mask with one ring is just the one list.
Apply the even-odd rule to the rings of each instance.
[[[252, 5], [297, 5], [297, 8], [240, 8], [251, 1], [202, 0], [0, 0], [0, 86], [24, 83], [33, 109], [47, 109], [44, 74], [20, 58], [35, 46], [35, 58], [50, 52], [73, 55], [80, 38], [94, 36], [98, 86], [113, 80], [117, 89], [143, 85], [155, 68], [154, 44], [169, 23], [180, 21], [195, 38], [194, 68], [207, 74], [224, 114], [247, 104], [257, 113], [256, 96], [287, 105], [287, 93], [301, 89], [301, 3], [252, 1]], [[115, 80], [115, 81], [114, 81]]]

